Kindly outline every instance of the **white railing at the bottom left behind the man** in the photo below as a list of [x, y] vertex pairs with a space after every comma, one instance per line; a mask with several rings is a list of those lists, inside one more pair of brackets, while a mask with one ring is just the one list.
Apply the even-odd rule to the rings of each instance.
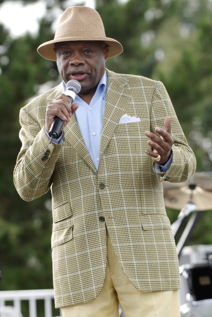
[[[29, 317], [37, 317], [37, 303], [36, 303], [37, 300], [44, 300], [45, 317], [53, 317], [52, 316], [53, 299], [54, 299], [53, 289], [0, 291], [0, 307], [2, 312], [7, 307], [5, 306], [6, 302], [13, 301], [14, 309], [16, 310], [16, 312], [21, 314], [22, 313], [21, 301], [29, 301]], [[59, 311], [59, 314], [60, 316], [62, 316], [61, 310]], [[1, 317], [3, 317], [3, 313]]]

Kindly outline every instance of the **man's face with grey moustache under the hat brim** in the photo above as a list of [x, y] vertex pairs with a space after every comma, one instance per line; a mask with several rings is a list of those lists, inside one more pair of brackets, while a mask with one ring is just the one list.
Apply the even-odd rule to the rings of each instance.
[[56, 43], [57, 68], [62, 79], [65, 83], [71, 79], [79, 81], [80, 94], [95, 92], [105, 73], [108, 49], [101, 41]]

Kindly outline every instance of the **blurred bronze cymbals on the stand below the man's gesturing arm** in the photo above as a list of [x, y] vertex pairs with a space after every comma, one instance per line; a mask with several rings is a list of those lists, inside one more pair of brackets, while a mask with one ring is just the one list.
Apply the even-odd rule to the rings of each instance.
[[181, 210], [192, 202], [196, 210], [212, 209], [212, 173], [196, 172], [183, 183], [163, 182], [164, 204], [166, 207]]

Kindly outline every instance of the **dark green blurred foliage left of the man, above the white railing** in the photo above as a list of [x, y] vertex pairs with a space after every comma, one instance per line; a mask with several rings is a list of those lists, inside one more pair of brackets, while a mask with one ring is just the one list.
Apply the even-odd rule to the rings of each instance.
[[45, 61], [36, 49], [54, 36], [44, 18], [37, 37], [11, 39], [0, 28], [0, 96], [2, 138], [0, 165], [0, 269], [3, 289], [52, 288], [50, 193], [31, 203], [18, 196], [13, 169], [20, 150], [19, 111], [42, 84], [55, 85], [55, 62]]

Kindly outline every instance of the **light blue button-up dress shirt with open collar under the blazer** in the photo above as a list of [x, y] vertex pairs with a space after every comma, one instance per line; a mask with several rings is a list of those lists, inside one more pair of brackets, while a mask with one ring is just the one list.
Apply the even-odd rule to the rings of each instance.
[[[63, 81], [63, 92], [66, 91], [66, 84]], [[88, 152], [93, 160], [93, 163], [98, 170], [99, 167], [99, 154], [100, 154], [100, 140], [102, 133], [102, 123], [105, 111], [105, 100], [107, 91], [107, 73], [101, 78], [99, 85], [93, 95], [93, 98], [88, 105], [78, 95], [74, 99], [74, 103], [78, 103], [79, 107], [75, 111], [74, 115], [78, 123], [80, 132], [87, 146]], [[128, 123], [129, 124], [129, 123]], [[50, 139], [48, 133], [46, 132]], [[58, 139], [52, 141], [61, 144], [63, 142], [62, 133]], [[166, 172], [172, 162], [172, 155], [169, 161], [165, 165], [155, 164], [155, 171]]]

